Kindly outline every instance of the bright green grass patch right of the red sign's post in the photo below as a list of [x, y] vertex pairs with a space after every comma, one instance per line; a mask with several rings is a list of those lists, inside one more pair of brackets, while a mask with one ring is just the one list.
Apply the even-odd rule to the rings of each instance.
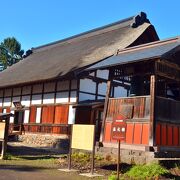
[[124, 176], [132, 179], [152, 179], [169, 174], [169, 171], [159, 164], [135, 165]]

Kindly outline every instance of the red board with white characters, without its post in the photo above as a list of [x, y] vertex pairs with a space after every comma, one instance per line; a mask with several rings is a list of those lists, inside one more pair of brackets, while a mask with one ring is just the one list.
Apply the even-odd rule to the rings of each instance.
[[115, 117], [112, 123], [112, 139], [125, 140], [126, 126], [126, 118], [124, 116]]

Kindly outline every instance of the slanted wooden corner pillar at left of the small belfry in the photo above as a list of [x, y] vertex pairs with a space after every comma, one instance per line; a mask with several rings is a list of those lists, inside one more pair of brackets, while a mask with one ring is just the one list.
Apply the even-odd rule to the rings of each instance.
[[100, 142], [102, 142], [104, 140], [104, 130], [105, 130], [105, 122], [106, 122], [108, 101], [109, 101], [109, 97], [111, 95], [111, 84], [112, 84], [112, 81], [108, 80], [108, 82], [107, 82], [107, 91], [106, 91], [106, 99], [105, 99], [105, 102], [104, 102], [103, 121], [102, 121], [102, 127], [101, 127]]

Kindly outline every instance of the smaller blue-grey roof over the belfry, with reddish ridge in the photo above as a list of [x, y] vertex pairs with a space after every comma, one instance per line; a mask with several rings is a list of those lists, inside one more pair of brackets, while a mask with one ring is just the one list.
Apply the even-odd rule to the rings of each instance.
[[132, 48], [119, 51], [116, 56], [109, 57], [95, 65], [92, 65], [87, 68], [87, 70], [104, 69], [111, 66], [139, 62], [156, 57], [166, 58], [165, 55], [167, 55], [174, 48], [179, 47], [180, 37], [134, 46]]

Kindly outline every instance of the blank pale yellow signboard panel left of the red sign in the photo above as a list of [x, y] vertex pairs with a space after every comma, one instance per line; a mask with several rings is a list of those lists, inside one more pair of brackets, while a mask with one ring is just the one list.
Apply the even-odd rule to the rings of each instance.
[[72, 126], [71, 148], [92, 151], [94, 148], [95, 125]]

